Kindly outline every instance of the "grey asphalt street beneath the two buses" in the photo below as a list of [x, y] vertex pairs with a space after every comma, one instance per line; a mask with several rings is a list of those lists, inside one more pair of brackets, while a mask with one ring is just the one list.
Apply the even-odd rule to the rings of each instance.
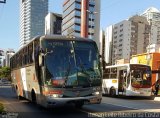
[[28, 100], [17, 100], [10, 86], [0, 86], [0, 102], [9, 115], [18, 118], [160, 117], [160, 101], [147, 98], [104, 96], [101, 104], [85, 105], [82, 109], [67, 105], [48, 110]]

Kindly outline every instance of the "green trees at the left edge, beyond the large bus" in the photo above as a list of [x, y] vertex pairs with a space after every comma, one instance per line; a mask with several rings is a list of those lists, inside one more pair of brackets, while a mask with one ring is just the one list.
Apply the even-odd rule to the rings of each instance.
[[0, 78], [11, 79], [11, 70], [9, 67], [0, 68]]

